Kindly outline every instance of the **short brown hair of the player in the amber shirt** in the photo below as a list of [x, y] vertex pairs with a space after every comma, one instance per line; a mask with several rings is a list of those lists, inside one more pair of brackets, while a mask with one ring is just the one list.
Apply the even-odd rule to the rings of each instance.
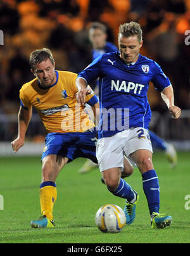
[[32, 70], [35, 70], [35, 65], [41, 63], [44, 60], [51, 60], [51, 63], [54, 64], [54, 58], [50, 51], [50, 49], [43, 48], [43, 49], [37, 49], [35, 51], [32, 51], [30, 54], [30, 68]]

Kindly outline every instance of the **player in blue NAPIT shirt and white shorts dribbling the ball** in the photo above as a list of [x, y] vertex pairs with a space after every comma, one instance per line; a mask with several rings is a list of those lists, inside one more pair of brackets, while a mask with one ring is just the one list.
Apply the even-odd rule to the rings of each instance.
[[108, 190], [115, 196], [125, 198], [124, 208], [128, 224], [136, 216], [139, 198], [121, 178], [124, 154], [139, 168], [143, 189], [147, 198], [152, 228], [170, 226], [172, 217], [160, 214], [160, 186], [152, 162], [152, 146], [148, 127], [151, 109], [147, 91], [149, 82], [160, 91], [168, 112], [179, 118], [181, 109], [174, 105], [173, 88], [168, 77], [153, 60], [142, 56], [143, 32], [136, 22], [120, 25], [119, 51], [96, 58], [78, 74], [77, 101], [85, 103], [87, 84], [99, 77], [100, 118], [96, 157]]

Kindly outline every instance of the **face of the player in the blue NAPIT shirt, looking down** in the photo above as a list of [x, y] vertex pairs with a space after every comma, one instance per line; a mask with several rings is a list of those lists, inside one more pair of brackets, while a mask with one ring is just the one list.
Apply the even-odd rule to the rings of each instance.
[[143, 46], [143, 41], [139, 42], [136, 35], [124, 37], [122, 34], [118, 37], [118, 47], [120, 50], [120, 58], [125, 63], [133, 63], [138, 60], [139, 51]]

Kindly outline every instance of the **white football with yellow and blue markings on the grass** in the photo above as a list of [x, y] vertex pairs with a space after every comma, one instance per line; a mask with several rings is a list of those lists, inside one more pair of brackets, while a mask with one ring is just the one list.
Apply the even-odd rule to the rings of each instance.
[[126, 223], [125, 213], [118, 205], [103, 205], [96, 212], [96, 226], [105, 233], [117, 233]]

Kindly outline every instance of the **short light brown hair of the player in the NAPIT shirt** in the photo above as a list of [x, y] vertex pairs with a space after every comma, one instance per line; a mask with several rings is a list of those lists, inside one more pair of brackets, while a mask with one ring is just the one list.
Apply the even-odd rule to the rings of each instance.
[[118, 36], [122, 34], [124, 37], [130, 37], [131, 35], [137, 35], [139, 43], [143, 39], [143, 31], [141, 25], [137, 22], [129, 22], [120, 25]]

